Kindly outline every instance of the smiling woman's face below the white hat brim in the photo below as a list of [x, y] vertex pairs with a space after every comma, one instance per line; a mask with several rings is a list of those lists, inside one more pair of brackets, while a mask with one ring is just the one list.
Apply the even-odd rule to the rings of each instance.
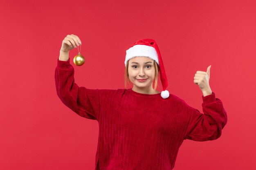
[[[154, 60], [148, 57], [134, 57], [128, 61], [130, 81], [139, 88], [152, 87], [155, 79]], [[139, 79], [146, 79], [140, 82]]]

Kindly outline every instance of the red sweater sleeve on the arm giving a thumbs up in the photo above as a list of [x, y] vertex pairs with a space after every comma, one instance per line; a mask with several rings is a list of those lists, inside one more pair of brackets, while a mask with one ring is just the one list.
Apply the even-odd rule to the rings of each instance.
[[193, 108], [189, 120], [188, 129], [184, 139], [193, 141], [209, 141], [218, 139], [222, 129], [227, 124], [227, 113], [223, 107], [222, 101], [215, 98], [215, 93], [203, 96], [202, 110], [203, 113]]

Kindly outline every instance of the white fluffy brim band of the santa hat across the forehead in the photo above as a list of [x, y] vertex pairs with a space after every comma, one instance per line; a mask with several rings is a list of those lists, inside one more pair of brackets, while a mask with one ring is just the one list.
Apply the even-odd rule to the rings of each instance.
[[124, 61], [124, 65], [126, 66], [128, 60], [130, 60], [133, 57], [136, 56], [145, 56], [149, 57], [152, 60], [155, 60], [157, 64], [159, 65], [158, 57], [157, 57], [157, 51], [153, 46], [147, 46], [147, 45], [135, 45], [132, 46], [130, 49], [126, 50], [126, 57]]

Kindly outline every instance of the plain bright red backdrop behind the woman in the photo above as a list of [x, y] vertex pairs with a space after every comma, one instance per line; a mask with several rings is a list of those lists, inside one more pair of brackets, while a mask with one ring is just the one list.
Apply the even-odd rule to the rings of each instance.
[[[167, 90], [202, 113], [196, 71], [211, 65], [210, 87], [227, 111], [215, 141], [185, 140], [175, 170], [254, 170], [256, 1], [2, 1], [0, 167], [93, 170], [98, 122], [76, 115], [56, 94], [54, 69], [67, 34], [82, 41], [79, 86], [124, 88], [126, 49], [156, 40]], [[78, 50], [70, 51], [71, 61]], [[159, 84], [162, 90], [162, 84]]]

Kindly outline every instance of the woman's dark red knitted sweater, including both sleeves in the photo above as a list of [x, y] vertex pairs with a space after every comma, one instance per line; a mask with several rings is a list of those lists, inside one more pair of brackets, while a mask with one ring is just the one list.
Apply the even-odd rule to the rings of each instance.
[[99, 123], [95, 170], [172, 170], [184, 139], [218, 139], [227, 124], [214, 92], [202, 95], [203, 114], [171, 93], [88, 89], [75, 83], [70, 58], [57, 59], [55, 82], [63, 104]]

